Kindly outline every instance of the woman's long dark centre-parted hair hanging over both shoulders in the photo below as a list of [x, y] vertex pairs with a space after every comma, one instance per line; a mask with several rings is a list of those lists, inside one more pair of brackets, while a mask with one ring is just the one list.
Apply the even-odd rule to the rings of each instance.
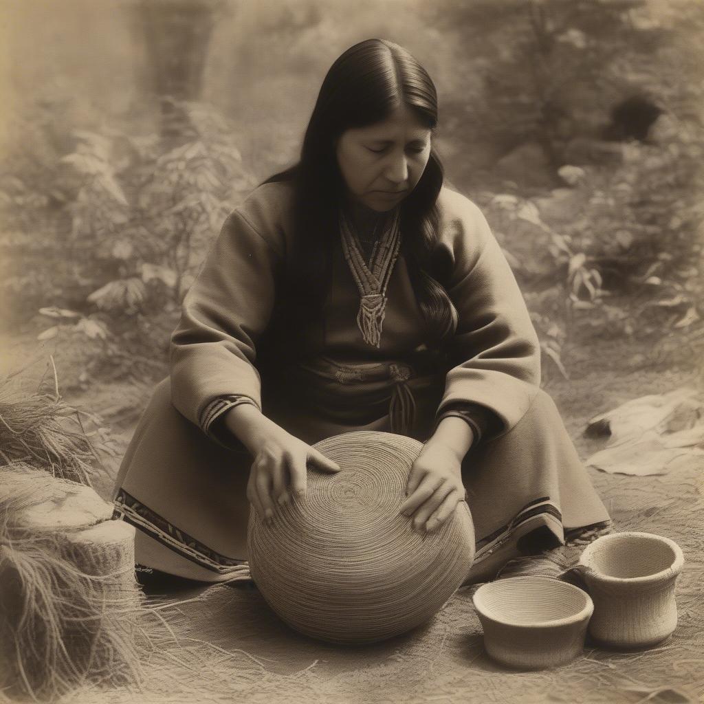
[[[386, 39], [367, 39], [351, 46], [327, 72], [303, 139], [296, 165], [264, 183], [294, 183], [294, 247], [287, 256], [285, 291], [279, 318], [289, 332], [305, 335], [322, 313], [332, 273], [333, 234], [344, 182], [335, 154], [343, 132], [384, 120], [399, 102], [434, 132], [437, 125], [435, 86], [420, 63], [402, 46]], [[401, 202], [402, 253], [426, 323], [426, 344], [441, 343], [455, 332], [457, 312], [441, 284], [447, 262], [432, 258], [439, 232], [437, 196], [444, 172], [431, 150], [423, 174]]]

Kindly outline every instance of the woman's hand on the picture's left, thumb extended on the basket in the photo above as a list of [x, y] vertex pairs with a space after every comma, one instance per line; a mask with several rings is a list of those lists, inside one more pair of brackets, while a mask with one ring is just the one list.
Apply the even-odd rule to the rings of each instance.
[[306, 493], [308, 464], [324, 472], [339, 472], [337, 463], [278, 427], [265, 435], [247, 484], [247, 498], [264, 520], [271, 522], [277, 505]]

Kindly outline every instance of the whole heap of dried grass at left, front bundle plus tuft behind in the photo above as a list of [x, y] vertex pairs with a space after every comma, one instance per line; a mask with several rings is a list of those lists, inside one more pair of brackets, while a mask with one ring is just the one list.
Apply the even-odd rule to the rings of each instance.
[[0, 698], [140, 676], [134, 529], [90, 488], [98, 455], [51, 367], [54, 394], [0, 379]]

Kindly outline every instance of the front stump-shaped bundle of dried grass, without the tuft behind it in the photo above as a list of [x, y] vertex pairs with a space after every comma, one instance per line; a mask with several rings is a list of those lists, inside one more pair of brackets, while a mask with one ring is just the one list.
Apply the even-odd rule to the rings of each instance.
[[[0, 686], [8, 696], [51, 701], [85, 681], [139, 680], [134, 529], [100, 520], [105, 502], [75, 486], [28, 465], [0, 467]], [[92, 510], [83, 491], [94, 495]]]

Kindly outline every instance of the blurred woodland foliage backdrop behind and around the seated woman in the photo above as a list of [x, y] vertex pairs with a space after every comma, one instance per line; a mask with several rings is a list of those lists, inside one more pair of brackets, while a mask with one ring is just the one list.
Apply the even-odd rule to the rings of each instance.
[[373, 36], [436, 82], [448, 183], [494, 228], [558, 401], [700, 365], [700, 0], [2, 0], [0, 32], [0, 371], [34, 365], [118, 434], [225, 216]]

